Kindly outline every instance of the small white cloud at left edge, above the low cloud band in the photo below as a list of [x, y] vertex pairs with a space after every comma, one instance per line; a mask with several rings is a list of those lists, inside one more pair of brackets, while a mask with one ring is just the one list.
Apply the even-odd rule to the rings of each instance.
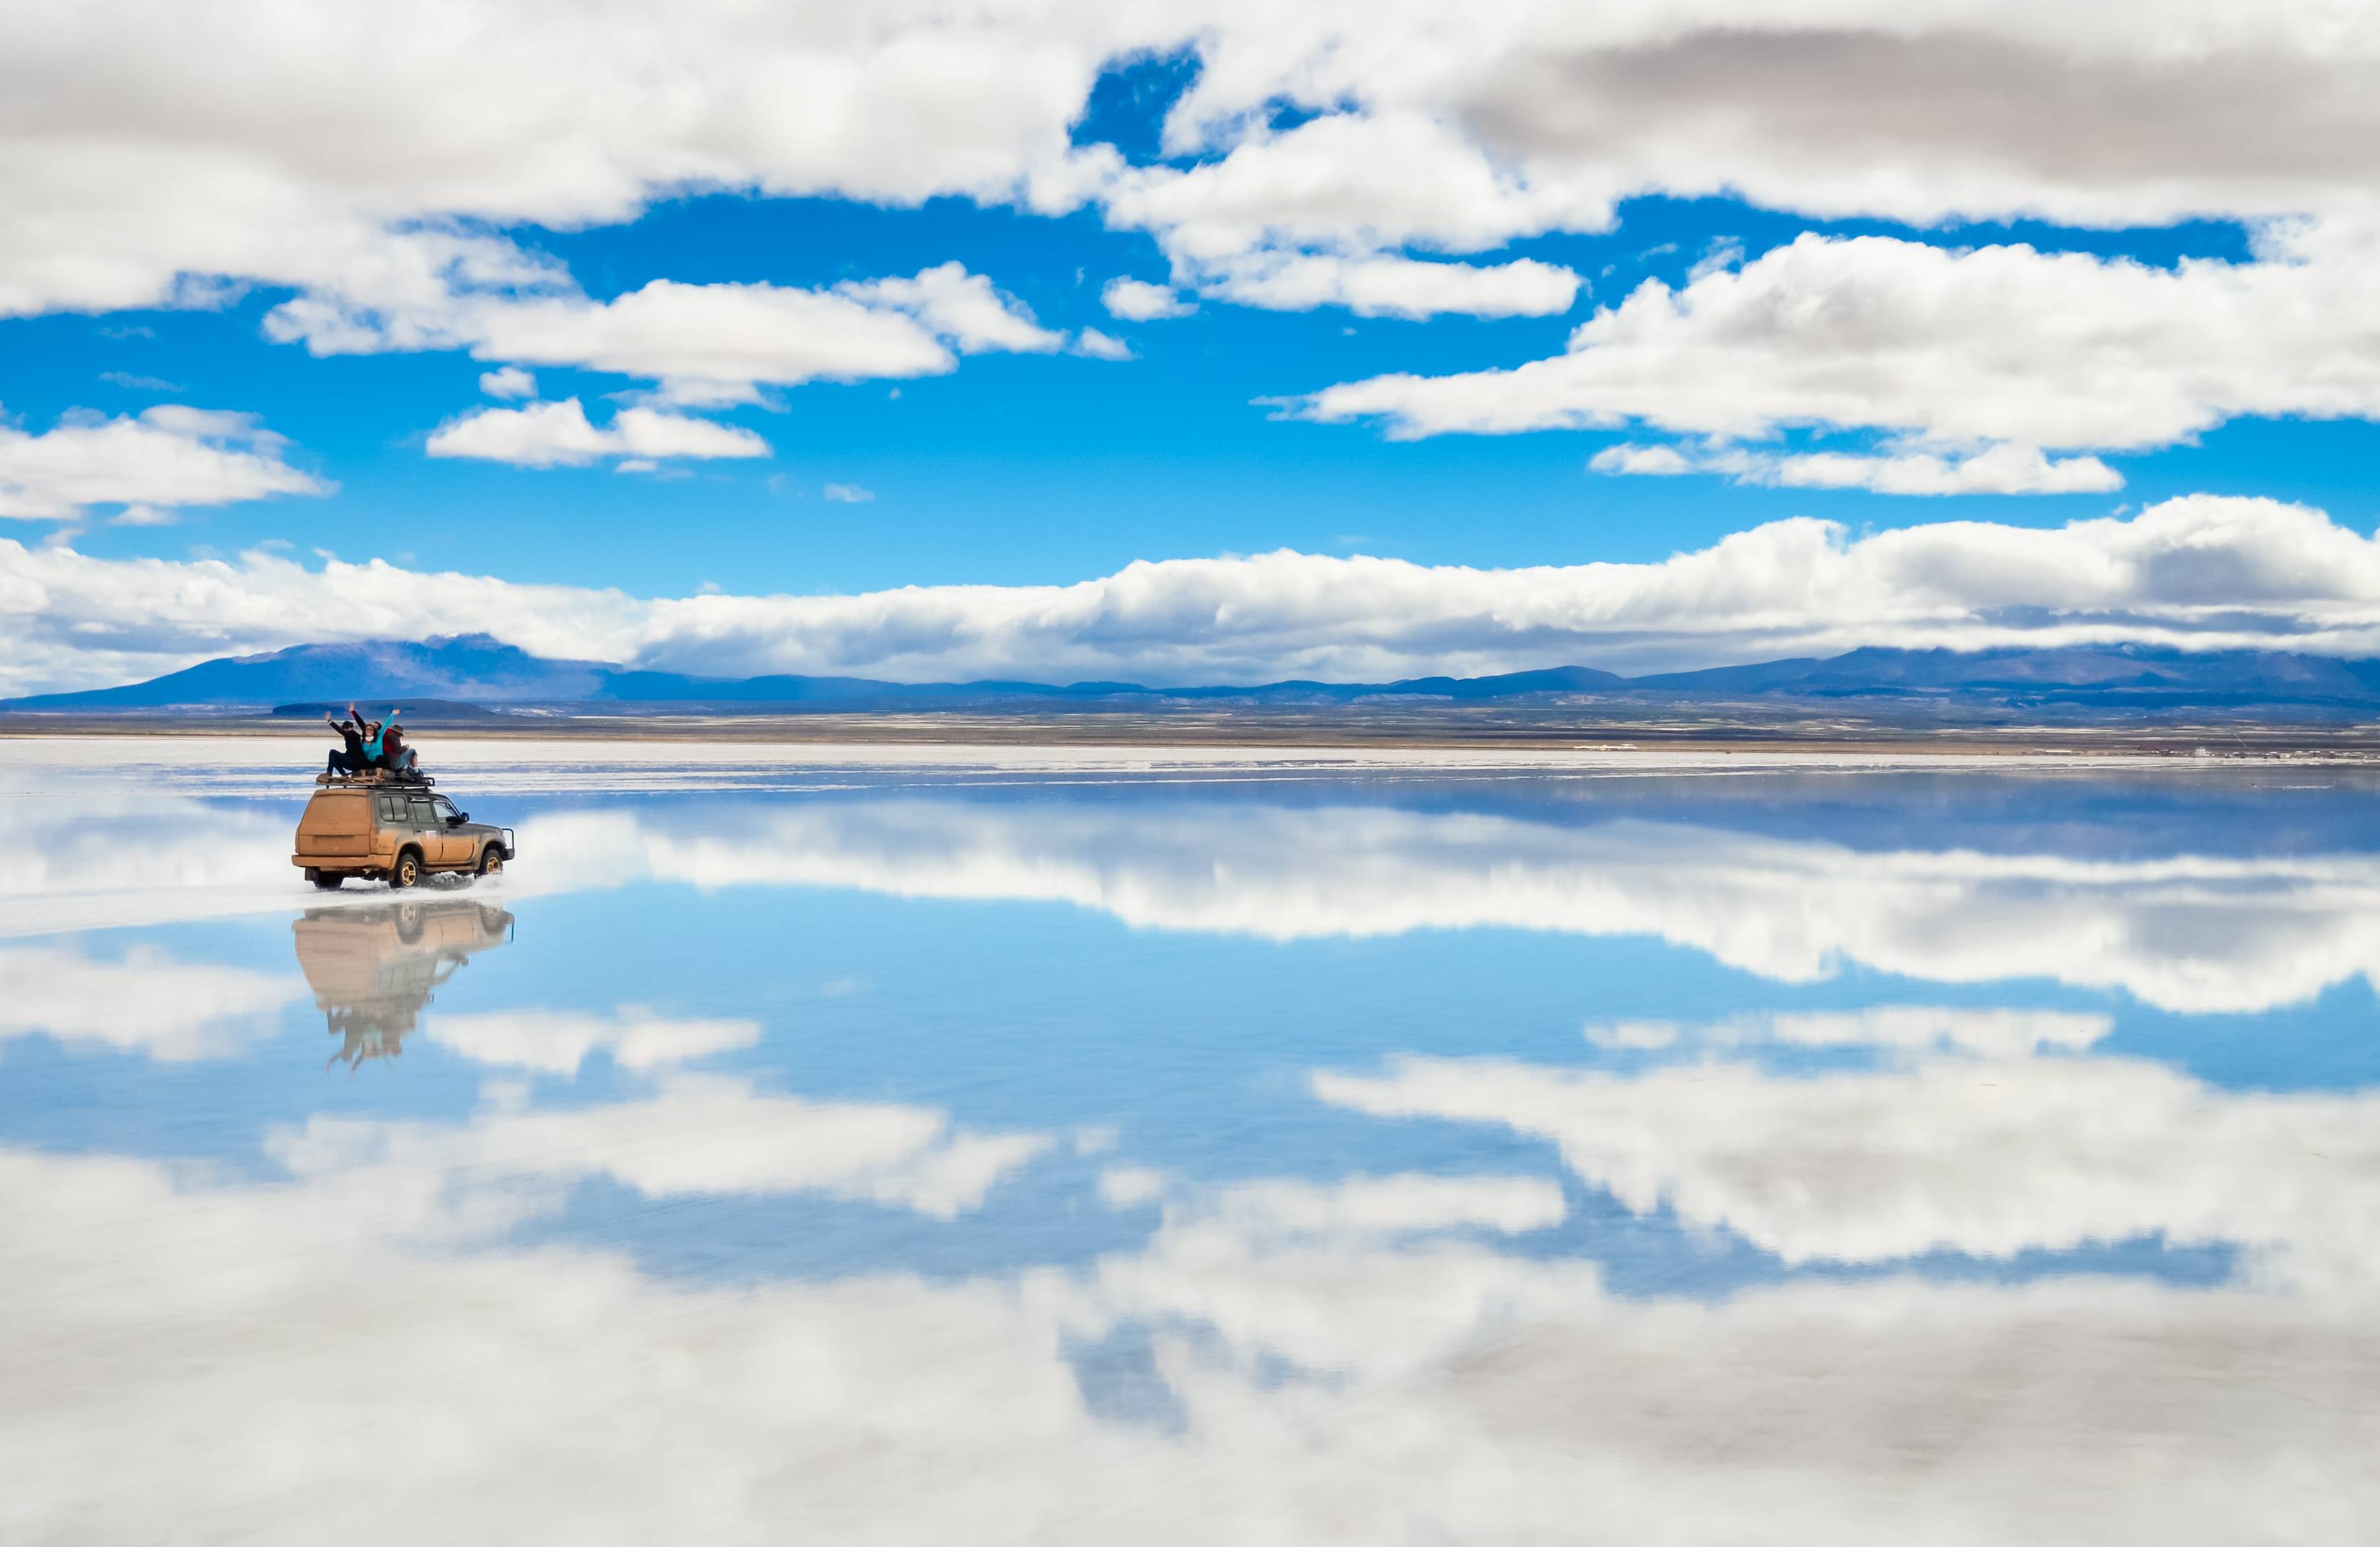
[[333, 490], [286, 452], [288, 440], [250, 414], [181, 405], [129, 419], [74, 412], [38, 436], [0, 421], [0, 516], [71, 521], [124, 505], [138, 524], [193, 505]]

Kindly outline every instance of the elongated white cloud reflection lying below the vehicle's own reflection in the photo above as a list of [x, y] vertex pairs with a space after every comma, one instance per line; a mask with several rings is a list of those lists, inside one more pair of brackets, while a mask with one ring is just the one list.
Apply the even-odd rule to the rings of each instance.
[[926, 1107], [759, 1095], [735, 1078], [674, 1076], [633, 1102], [483, 1111], [462, 1126], [312, 1119], [274, 1140], [302, 1176], [609, 1178], [645, 1197], [823, 1192], [954, 1219], [1050, 1147], [1038, 1133], [966, 1133]]

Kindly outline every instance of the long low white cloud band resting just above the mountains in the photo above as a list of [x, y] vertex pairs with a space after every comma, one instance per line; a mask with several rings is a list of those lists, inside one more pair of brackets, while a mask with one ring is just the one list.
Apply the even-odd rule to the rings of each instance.
[[17, 690], [309, 640], [471, 631], [555, 657], [895, 681], [1383, 681], [2118, 640], [2380, 654], [2380, 543], [2301, 505], [2190, 495], [2056, 528], [1942, 521], [1852, 538], [1790, 519], [1649, 564], [1273, 552], [1135, 562], [1071, 585], [807, 597], [631, 597], [378, 559], [307, 569], [271, 552], [95, 559], [0, 543], [0, 616], [17, 638], [0, 681]]

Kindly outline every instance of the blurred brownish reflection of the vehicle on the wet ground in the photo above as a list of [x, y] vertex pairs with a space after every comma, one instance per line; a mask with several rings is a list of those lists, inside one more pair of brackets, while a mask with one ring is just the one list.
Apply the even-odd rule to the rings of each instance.
[[362, 1064], [402, 1052], [431, 992], [474, 952], [512, 940], [512, 914], [493, 902], [388, 902], [314, 907], [290, 923], [298, 971], [340, 1047]]

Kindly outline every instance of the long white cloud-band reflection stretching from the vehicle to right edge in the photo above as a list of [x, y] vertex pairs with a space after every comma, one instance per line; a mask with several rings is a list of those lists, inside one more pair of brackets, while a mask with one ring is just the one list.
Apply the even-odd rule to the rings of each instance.
[[2056, 978], [2178, 1012], [2271, 1009], [2380, 973], [2380, 857], [1864, 852], [1673, 821], [1250, 802], [873, 800], [697, 831], [531, 823], [533, 885], [654, 876], [1071, 902], [1266, 940], [1526, 928], [1659, 935], [1787, 983], [1856, 962], [1940, 983]]

